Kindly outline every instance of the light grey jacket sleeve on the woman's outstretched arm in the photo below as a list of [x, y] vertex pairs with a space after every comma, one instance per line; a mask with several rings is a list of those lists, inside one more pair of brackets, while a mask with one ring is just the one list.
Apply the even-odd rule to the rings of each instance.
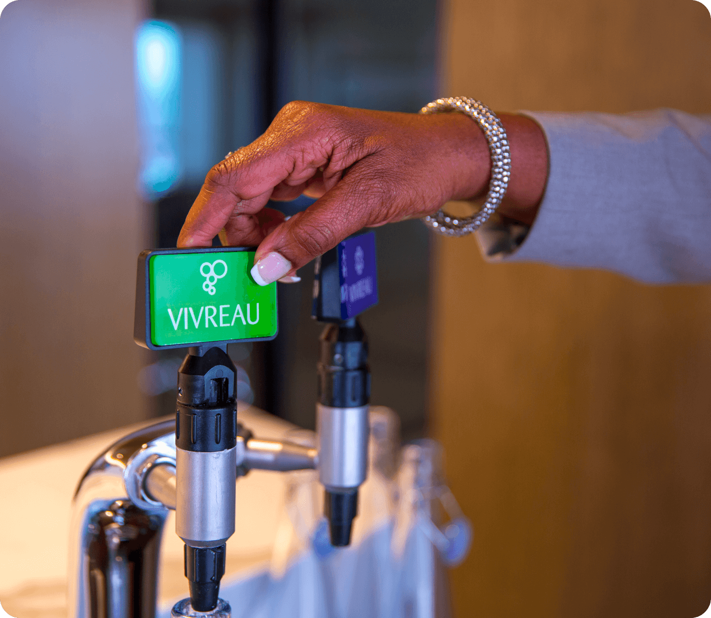
[[530, 230], [482, 227], [489, 259], [711, 281], [711, 116], [521, 113], [545, 133], [547, 185]]

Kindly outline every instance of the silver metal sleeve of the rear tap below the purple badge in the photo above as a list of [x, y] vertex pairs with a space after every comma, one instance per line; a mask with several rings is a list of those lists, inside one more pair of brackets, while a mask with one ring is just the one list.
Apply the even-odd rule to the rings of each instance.
[[319, 480], [326, 489], [358, 487], [368, 470], [368, 407], [316, 405]]

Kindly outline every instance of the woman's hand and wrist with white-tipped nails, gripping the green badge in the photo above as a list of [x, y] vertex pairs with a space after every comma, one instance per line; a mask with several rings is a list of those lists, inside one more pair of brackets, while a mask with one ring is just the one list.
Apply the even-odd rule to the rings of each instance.
[[[500, 117], [511, 148], [509, 210], [533, 220], [530, 210], [545, 186], [545, 140], [532, 120]], [[523, 158], [518, 175], [517, 155]], [[486, 139], [464, 114], [292, 102], [260, 138], [210, 170], [178, 246], [210, 246], [216, 234], [225, 245], [258, 244], [255, 281], [288, 281], [362, 227], [423, 217], [448, 200], [480, 195], [490, 170]], [[537, 194], [532, 185], [540, 185]], [[264, 208], [270, 199], [294, 200], [302, 193], [319, 200], [288, 221]]]

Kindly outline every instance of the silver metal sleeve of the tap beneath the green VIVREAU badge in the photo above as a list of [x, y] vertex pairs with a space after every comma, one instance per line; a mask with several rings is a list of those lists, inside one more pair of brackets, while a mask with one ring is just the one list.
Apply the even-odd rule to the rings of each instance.
[[215, 547], [235, 531], [237, 448], [176, 448], [176, 533], [191, 547]]

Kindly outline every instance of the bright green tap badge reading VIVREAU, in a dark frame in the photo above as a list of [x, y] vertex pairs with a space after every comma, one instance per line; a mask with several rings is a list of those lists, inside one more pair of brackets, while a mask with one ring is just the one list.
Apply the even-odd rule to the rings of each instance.
[[134, 338], [151, 348], [273, 339], [277, 285], [255, 283], [254, 256], [251, 247], [144, 251]]

